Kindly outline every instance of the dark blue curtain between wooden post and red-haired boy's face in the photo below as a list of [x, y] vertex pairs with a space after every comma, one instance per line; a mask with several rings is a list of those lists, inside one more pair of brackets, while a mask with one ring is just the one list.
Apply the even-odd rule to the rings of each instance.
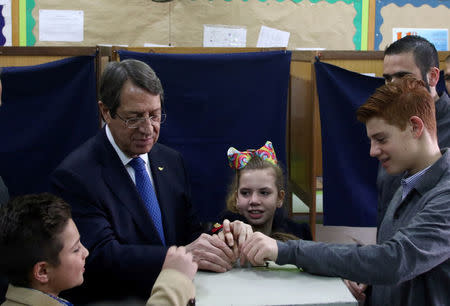
[[325, 225], [376, 226], [378, 161], [355, 112], [382, 78], [314, 64], [319, 95]]

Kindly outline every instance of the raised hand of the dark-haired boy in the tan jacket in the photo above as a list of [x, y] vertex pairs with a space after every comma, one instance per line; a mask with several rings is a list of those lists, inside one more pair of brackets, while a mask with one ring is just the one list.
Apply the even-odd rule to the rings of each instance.
[[167, 250], [162, 269], [174, 269], [185, 274], [190, 280], [194, 279], [198, 265], [191, 253], [186, 253], [185, 247], [171, 246]]

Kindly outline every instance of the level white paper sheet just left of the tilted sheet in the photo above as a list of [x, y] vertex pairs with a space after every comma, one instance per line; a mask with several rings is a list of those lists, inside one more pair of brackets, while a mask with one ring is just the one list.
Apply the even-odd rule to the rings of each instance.
[[245, 47], [247, 28], [226, 25], [203, 26], [203, 47]]

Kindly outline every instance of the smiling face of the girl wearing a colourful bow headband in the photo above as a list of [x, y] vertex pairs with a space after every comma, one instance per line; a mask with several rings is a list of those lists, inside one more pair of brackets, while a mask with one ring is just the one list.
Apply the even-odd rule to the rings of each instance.
[[272, 225], [275, 210], [283, 205], [284, 191], [275, 185], [272, 168], [242, 170], [237, 190], [237, 209], [253, 226]]

